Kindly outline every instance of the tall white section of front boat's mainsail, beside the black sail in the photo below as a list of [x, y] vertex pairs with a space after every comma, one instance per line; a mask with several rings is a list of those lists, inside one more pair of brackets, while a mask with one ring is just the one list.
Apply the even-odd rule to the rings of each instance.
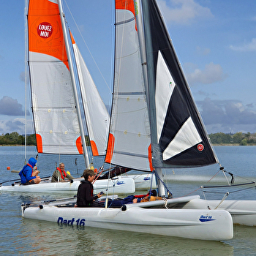
[[110, 133], [115, 138], [112, 163], [150, 170], [150, 127], [135, 17], [116, 10], [116, 60]]

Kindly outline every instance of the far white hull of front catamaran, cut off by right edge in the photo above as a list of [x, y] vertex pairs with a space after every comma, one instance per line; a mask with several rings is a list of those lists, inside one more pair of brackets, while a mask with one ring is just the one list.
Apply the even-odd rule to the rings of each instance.
[[256, 226], [255, 200], [190, 200], [184, 208], [189, 209], [222, 209], [228, 211], [234, 224]]

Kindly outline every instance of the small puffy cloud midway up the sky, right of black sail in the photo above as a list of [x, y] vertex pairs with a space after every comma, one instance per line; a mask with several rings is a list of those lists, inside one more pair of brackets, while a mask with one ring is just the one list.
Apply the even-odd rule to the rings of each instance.
[[[187, 65], [187, 67], [189, 67], [189, 65]], [[227, 75], [224, 74], [222, 67], [213, 62], [206, 64], [204, 70], [195, 69], [194, 72], [187, 74], [187, 80], [191, 85], [196, 83], [216, 83], [225, 80], [225, 78], [227, 78]]]

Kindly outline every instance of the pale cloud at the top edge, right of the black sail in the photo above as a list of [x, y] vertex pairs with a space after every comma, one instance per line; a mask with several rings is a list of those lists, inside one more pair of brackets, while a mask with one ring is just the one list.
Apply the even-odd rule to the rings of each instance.
[[195, 18], [213, 18], [214, 15], [207, 7], [202, 7], [194, 0], [159, 0], [159, 7], [165, 13], [165, 19], [178, 24], [189, 25]]

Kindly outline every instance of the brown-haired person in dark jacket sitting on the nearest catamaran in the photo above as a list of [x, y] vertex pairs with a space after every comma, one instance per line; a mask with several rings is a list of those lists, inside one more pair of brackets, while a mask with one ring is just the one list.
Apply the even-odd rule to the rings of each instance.
[[77, 206], [78, 207], [102, 207], [104, 204], [94, 202], [102, 196], [101, 193], [94, 195], [94, 187], [91, 184], [94, 181], [95, 173], [94, 170], [86, 169], [83, 171], [84, 181], [81, 181], [81, 184], [78, 187], [77, 195]]

